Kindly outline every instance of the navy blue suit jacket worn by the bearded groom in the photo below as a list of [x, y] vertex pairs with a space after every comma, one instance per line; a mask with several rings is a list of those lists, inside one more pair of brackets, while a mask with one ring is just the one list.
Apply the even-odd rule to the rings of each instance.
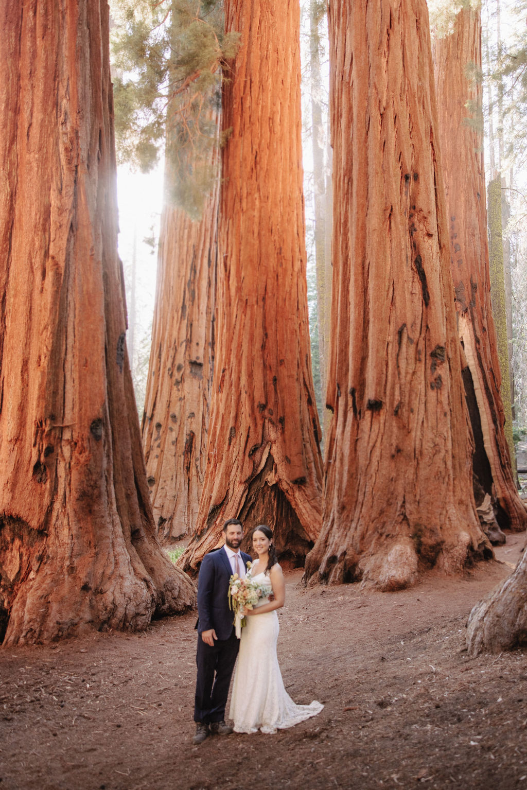
[[[247, 568], [250, 555], [240, 551]], [[213, 628], [218, 639], [228, 639], [234, 623], [234, 612], [228, 605], [228, 584], [232, 567], [224, 548], [210, 551], [201, 561], [198, 576], [198, 634]]]

